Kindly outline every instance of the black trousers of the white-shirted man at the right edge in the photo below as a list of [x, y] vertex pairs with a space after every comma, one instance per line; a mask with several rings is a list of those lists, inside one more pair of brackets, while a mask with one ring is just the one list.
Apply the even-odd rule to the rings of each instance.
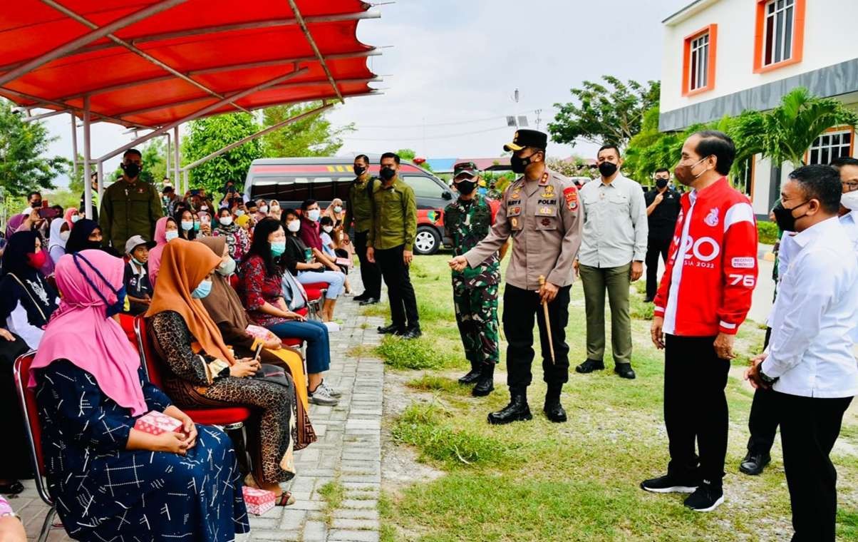
[[793, 542], [834, 542], [837, 470], [829, 454], [852, 398], [770, 393], [781, 413], [783, 470], [793, 509]]

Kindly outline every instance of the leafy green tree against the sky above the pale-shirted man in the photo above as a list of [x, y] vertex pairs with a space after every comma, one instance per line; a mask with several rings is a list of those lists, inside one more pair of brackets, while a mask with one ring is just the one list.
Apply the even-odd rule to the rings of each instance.
[[578, 138], [590, 143], [614, 143], [623, 148], [641, 130], [644, 113], [658, 105], [661, 83], [621, 82], [613, 76], [601, 76], [607, 83], [584, 81], [583, 88], [572, 88], [576, 100], [554, 104], [559, 113], [548, 131], [556, 143], [574, 146]]

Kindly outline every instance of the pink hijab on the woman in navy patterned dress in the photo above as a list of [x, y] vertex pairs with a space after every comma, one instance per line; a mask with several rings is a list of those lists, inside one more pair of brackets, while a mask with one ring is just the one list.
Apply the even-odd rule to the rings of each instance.
[[[101, 391], [117, 405], [129, 408], [131, 416], [145, 414], [146, 399], [137, 374], [140, 356], [117, 321], [106, 317], [106, 303], [90, 285], [93, 283], [107, 302], [115, 303], [114, 291], [123, 285], [123, 260], [100, 250], [84, 250], [78, 255], [98, 269], [107, 283], [81, 259], [76, 262], [71, 254], [59, 259], [55, 277], [62, 299], [45, 327], [31, 368], [67, 359], [93, 375]], [[35, 385], [31, 372], [29, 387]]]

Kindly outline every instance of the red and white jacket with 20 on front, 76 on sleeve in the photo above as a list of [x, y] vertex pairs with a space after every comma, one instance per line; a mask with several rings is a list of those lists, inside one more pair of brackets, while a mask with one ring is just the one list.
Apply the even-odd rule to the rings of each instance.
[[686, 193], [680, 204], [655, 315], [664, 317], [663, 331], [671, 335], [735, 334], [757, 285], [751, 204], [725, 177]]

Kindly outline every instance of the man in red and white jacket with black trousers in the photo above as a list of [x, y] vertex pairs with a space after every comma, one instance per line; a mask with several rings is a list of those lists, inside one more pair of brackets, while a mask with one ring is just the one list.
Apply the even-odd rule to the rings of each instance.
[[[727, 386], [733, 342], [757, 284], [757, 224], [751, 204], [725, 177], [733, 141], [720, 131], [686, 139], [674, 174], [682, 196], [668, 264], [656, 294], [652, 341], [664, 354], [668, 474], [645, 480], [656, 493], [692, 493], [688, 508], [724, 501]], [[699, 459], [694, 443], [698, 443]]]

